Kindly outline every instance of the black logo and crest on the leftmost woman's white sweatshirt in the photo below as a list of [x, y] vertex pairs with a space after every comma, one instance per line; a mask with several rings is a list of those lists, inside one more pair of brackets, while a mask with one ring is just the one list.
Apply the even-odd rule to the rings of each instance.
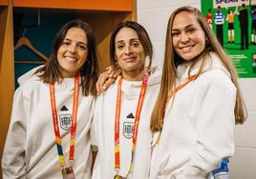
[[59, 126], [61, 129], [69, 130], [72, 126], [72, 115], [69, 113], [69, 109], [63, 106], [60, 109], [59, 114]]

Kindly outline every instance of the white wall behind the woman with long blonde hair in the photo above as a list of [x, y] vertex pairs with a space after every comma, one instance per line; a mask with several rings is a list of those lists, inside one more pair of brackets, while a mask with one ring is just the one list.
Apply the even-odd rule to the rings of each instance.
[[[154, 45], [153, 64], [161, 65], [168, 18], [181, 6], [201, 9], [200, 0], [137, 0], [138, 22], [149, 33]], [[236, 153], [230, 159], [231, 179], [256, 179], [256, 79], [240, 79], [248, 109], [248, 119], [235, 129]]]

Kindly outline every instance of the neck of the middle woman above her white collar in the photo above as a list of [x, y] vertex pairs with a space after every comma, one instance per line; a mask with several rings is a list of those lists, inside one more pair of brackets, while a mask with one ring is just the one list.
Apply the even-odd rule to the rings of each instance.
[[128, 81], [141, 81], [145, 74], [145, 69], [142, 70], [122, 70], [122, 77]]

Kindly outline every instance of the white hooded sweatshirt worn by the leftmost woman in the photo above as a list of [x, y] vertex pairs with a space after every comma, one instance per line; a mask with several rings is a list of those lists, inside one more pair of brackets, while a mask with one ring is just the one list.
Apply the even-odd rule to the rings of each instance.
[[[48, 84], [37, 77], [16, 89], [11, 124], [2, 158], [4, 179], [62, 178], [55, 145], [53, 117]], [[74, 78], [54, 84], [62, 149], [69, 165], [70, 128], [73, 112]], [[75, 178], [91, 178], [91, 143], [89, 129], [94, 114], [95, 98], [82, 96], [79, 89], [75, 133]]]

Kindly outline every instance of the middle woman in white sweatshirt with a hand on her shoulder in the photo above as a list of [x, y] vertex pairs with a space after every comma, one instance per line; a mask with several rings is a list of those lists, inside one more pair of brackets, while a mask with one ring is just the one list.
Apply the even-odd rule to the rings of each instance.
[[160, 87], [160, 71], [151, 68], [152, 55], [150, 38], [137, 22], [122, 22], [112, 32], [111, 62], [121, 76], [96, 99], [93, 179], [148, 178], [149, 119]]

